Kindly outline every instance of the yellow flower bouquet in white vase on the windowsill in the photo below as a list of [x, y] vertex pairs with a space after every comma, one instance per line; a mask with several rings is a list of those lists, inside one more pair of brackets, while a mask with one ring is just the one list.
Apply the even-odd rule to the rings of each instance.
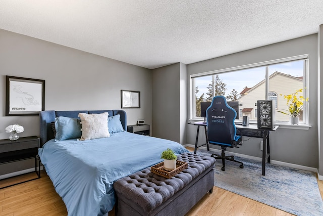
[[283, 111], [278, 111], [278, 112], [286, 115], [290, 115], [291, 117], [297, 117], [299, 112], [303, 109], [304, 101], [308, 101], [308, 98], [305, 99], [301, 95], [298, 96], [298, 93], [301, 93], [301, 92], [303, 92], [303, 89], [296, 90], [296, 92], [291, 95], [284, 95], [284, 99], [287, 100], [288, 110], [286, 111], [288, 111], [288, 113]]

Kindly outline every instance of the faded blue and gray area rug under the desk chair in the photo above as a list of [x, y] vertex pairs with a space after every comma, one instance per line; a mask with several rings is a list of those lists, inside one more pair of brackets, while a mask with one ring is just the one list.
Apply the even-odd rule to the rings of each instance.
[[[197, 154], [210, 156], [211, 152], [198, 150]], [[226, 160], [226, 170], [222, 171], [222, 160], [217, 159], [214, 186], [295, 215], [323, 215], [314, 172], [266, 163], [262, 176], [261, 161], [236, 156], [235, 159], [243, 162], [244, 168]]]

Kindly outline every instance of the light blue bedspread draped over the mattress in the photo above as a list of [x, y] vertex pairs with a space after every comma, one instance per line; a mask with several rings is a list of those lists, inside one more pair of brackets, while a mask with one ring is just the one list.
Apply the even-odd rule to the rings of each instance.
[[39, 156], [63, 198], [68, 215], [104, 215], [113, 209], [113, 183], [160, 161], [171, 148], [188, 152], [182, 145], [159, 138], [121, 132], [88, 141], [48, 141]]

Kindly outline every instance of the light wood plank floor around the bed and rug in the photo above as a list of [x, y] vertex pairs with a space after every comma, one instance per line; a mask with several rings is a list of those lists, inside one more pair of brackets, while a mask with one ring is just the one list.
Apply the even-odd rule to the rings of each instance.
[[[192, 148], [187, 148], [190, 151]], [[0, 187], [27, 175], [0, 181]], [[323, 181], [318, 180], [321, 196]], [[0, 216], [55, 215], [66, 216], [67, 210], [62, 198], [56, 193], [49, 177], [41, 172], [41, 178], [0, 190]], [[115, 211], [109, 212], [115, 215]], [[186, 215], [292, 215], [280, 209], [252, 199], [231, 193], [218, 187], [207, 193]]]

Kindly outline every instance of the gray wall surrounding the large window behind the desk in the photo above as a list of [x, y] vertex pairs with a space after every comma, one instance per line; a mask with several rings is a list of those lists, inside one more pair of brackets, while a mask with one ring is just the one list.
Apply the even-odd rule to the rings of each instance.
[[[187, 65], [188, 83], [190, 82], [191, 74], [309, 54], [309, 124], [311, 127], [308, 130], [279, 128], [275, 133], [271, 133], [271, 159], [308, 167], [318, 167], [317, 38], [317, 34], [312, 34], [278, 44], [189, 64]], [[190, 91], [189, 86], [187, 91]], [[187, 104], [190, 104], [189, 95]], [[189, 119], [190, 106], [188, 110], [187, 118]], [[194, 144], [195, 137], [196, 126], [189, 125], [187, 129], [187, 142]], [[199, 144], [204, 142], [205, 136], [203, 130], [201, 130]], [[251, 138], [241, 148], [229, 148], [228, 151], [261, 157], [259, 143], [260, 139]], [[220, 149], [218, 146], [212, 146], [212, 148]]]

